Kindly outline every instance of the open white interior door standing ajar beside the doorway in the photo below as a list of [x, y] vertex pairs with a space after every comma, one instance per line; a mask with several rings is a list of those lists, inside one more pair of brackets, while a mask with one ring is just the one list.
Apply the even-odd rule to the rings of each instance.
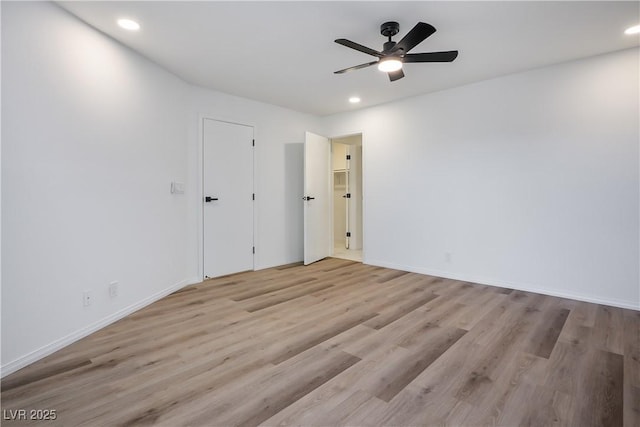
[[331, 144], [306, 132], [304, 141], [304, 264], [331, 255]]

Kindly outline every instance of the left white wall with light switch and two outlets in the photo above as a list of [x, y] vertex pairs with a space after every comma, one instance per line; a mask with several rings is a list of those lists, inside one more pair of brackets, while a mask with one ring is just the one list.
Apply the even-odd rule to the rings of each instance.
[[2, 89], [6, 375], [186, 283], [188, 86], [53, 4], [3, 2]]

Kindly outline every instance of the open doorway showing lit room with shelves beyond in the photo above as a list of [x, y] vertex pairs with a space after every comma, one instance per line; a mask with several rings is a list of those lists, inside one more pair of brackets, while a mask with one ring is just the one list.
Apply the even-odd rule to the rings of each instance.
[[331, 139], [333, 256], [362, 262], [362, 135]]

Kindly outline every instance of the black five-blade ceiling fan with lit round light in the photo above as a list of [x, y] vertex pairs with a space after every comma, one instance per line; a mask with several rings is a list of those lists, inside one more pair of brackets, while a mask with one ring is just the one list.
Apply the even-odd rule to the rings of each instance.
[[385, 22], [380, 26], [380, 34], [388, 37], [389, 40], [384, 43], [382, 52], [362, 46], [361, 44], [352, 42], [347, 39], [337, 39], [336, 43], [341, 44], [359, 52], [366, 53], [377, 57], [378, 59], [366, 64], [360, 64], [344, 70], [335, 71], [334, 74], [343, 74], [347, 71], [359, 70], [361, 68], [370, 67], [378, 64], [378, 69], [389, 75], [389, 79], [394, 82], [404, 77], [402, 64], [412, 62], [451, 62], [458, 56], [457, 50], [449, 50], [445, 52], [428, 52], [428, 53], [409, 53], [411, 49], [420, 44], [424, 39], [436, 32], [436, 29], [424, 22], [418, 22], [415, 27], [407, 33], [399, 42], [394, 42], [391, 37], [398, 34], [400, 24], [395, 21]]

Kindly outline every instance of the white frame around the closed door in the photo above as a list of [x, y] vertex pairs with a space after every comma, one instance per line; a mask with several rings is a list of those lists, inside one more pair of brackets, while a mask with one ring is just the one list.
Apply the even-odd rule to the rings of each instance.
[[[230, 118], [221, 118], [220, 116], [216, 115], [216, 114], [206, 114], [206, 113], [199, 113], [198, 114], [198, 152], [196, 154], [196, 163], [199, 165], [199, 167], [197, 168], [198, 170], [198, 176], [197, 176], [197, 181], [196, 181], [196, 195], [198, 198], [198, 206], [199, 208], [196, 209], [197, 212], [197, 216], [196, 216], [196, 220], [197, 220], [197, 224], [198, 224], [198, 233], [197, 233], [197, 251], [196, 251], [196, 257], [197, 257], [197, 263], [198, 263], [198, 278], [201, 281], [205, 280], [204, 277], [204, 120], [215, 120], [218, 122], [223, 122], [223, 123], [229, 123], [229, 124], [233, 124], [233, 125], [240, 125], [240, 126], [248, 126], [253, 128], [253, 140], [256, 140], [256, 134], [257, 134], [257, 127], [255, 124], [251, 124], [251, 123], [241, 123], [237, 120], [233, 120]], [[253, 202], [253, 246], [256, 248], [255, 253], [253, 254], [253, 266], [252, 266], [252, 270], [255, 271], [256, 270], [256, 260], [258, 259], [258, 207], [259, 207], [259, 196], [258, 196], [258, 189], [256, 188], [256, 175], [257, 175], [257, 151], [258, 151], [258, 144], [256, 143], [253, 147], [253, 176], [252, 176], [252, 188], [253, 188], [253, 193], [256, 195], [256, 198]]]

